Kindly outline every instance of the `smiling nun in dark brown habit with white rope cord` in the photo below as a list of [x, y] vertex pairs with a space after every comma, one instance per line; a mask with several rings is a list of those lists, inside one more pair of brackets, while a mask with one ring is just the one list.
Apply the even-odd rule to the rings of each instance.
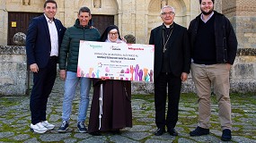
[[[102, 34], [102, 42], [126, 43], [119, 28], [110, 25]], [[132, 127], [131, 82], [129, 80], [93, 79], [93, 101], [88, 132], [99, 136], [102, 132], [120, 134]]]

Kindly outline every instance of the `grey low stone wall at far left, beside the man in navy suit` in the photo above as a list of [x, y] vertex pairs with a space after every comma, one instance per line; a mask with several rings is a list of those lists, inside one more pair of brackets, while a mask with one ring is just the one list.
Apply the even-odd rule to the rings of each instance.
[[27, 62], [24, 46], [0, 46], [0, 95], [25, 95]]

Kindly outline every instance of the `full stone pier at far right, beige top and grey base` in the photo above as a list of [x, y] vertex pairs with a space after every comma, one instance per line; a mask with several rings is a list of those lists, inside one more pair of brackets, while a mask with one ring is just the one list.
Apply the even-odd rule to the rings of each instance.
[[255, 6], [252, 0], [222, 2], [222, 12], [232, 22], [238, 40], [238, 53], [231, 72], [231, 88], [236, 92], [256, 90]]

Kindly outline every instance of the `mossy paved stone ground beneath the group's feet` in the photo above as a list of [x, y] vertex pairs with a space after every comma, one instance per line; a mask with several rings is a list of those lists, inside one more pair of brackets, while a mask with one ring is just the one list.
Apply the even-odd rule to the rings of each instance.
[[[216, 100], [213, 98], [210, 135], [190, 137], [190, 130], [197, 126], [198, 104], [194, 94], [182, 94], [180, 102], [180, 117], [176, 130], [178, 137], [165, 133], [154, 136], [154, 97], [152, 95], [136, 95], [132, 98], [133, 127], [121, 130], [120, 135], [103, 133], [94, 137], [88, 133], [79, 133], [76, 129], [77, 108], [79, 96], [75, 97], [70, 129], [66, 133], [57, 133], [61, 123], [62, 99], [64, 82], [57, 79], [52, 94], [49, 97], [48, 120], [56, 125], [54, 130], [44, 134], [31, 132], [29, 97], [0, 97], [0, 143], [5, 142], [223, 142], [217, 117]], [[78, 92], [76, 92], [78, 95]], [[92, 94], [91, 94], [92, 95]], [[92, 97], [92, 96], [91, 96]], [[92, 100], [91, 100], [92, 101]], [[256, 143], [256, 99], [255, 96], [234, 95], [233, 107], [233, 139], [230, 142]], [[88, 112], [89, 114], [89, 112]], [[88, 119], [86, 120], [86, 124]]]

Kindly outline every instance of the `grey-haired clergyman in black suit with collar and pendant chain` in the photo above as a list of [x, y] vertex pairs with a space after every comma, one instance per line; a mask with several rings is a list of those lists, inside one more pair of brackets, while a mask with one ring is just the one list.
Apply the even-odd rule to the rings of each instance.
[[[160, 14], [163, 25], [152, 29], [149, 44], [154, 45], [154, 106], [157, 130], [160, 136], [167, 131], [178, 136], [174, 127], [178, 121], [181, 81], [190, 72], [190, 43], [187, 29], [173, 22], [174, 8], [163, 6]], [[166, 88], [168, 85], [168, 111], [165, 119]]]

